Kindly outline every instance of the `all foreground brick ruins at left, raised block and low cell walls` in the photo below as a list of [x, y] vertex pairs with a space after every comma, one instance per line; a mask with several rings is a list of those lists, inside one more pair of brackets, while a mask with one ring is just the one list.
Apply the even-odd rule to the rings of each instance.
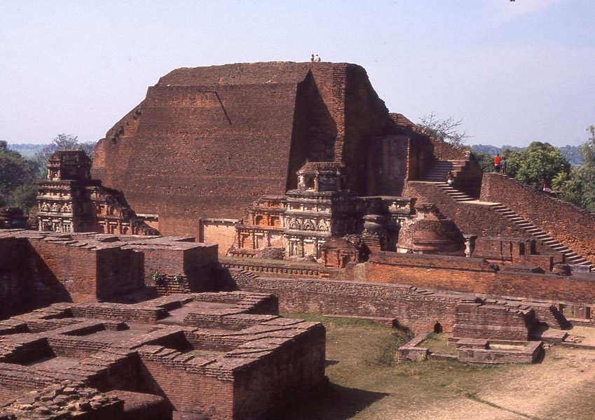
[[217, 245], [5, 230], [0, 250], [0, 419], [260, 419], [325, 383], [322, 325], [207, 292]]

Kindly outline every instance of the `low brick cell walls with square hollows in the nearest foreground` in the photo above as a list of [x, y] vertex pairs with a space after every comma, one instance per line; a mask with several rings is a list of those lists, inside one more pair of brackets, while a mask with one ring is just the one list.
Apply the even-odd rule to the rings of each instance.
[[324, 384], [324, 327], [266, 294], [53, 304], [0, 321], [0, 339], [3, 419], [260, 419]]

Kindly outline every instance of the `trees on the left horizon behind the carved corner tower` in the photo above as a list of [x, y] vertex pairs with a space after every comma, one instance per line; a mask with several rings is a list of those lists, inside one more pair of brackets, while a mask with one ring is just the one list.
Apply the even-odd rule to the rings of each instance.
[[[20, 153], [14, 146], [31, 146]], [[39, 147], [41, 146], [41, 147]], [[48, 158], [58, 150], [83, 150], [90, 157], [94, 143], [78, 143], [70, 134], [58, 134], [51, 144], [8, 145], [0, 141], [0, 207], [19, 207], [25, 214], [36, 204], [36, 181], [47, 176]], [[32, 154], [27, 151], [35, 151]]]

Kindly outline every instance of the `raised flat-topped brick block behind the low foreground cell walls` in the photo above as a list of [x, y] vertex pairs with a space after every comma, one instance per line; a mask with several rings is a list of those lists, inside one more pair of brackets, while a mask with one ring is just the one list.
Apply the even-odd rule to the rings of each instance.
[[[189, 291], [215, 290], [217, 246], [163, 238], [31, 230], [0, 231], [0, 315], [53, 302], [118, 300], [174, 277]], [[166, 284], [163, 285], [167, 287]]]

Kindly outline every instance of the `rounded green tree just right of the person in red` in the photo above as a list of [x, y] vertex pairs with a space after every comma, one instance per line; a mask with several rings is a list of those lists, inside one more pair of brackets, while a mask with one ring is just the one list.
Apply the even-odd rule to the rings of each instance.
[[541, 189], [545, 181], [570, 175], [570, 163], [559, 148], [549, 143], [533, 141], [526, 151], [507, 151], [507, 173], [519, 181], [536, 189]]

